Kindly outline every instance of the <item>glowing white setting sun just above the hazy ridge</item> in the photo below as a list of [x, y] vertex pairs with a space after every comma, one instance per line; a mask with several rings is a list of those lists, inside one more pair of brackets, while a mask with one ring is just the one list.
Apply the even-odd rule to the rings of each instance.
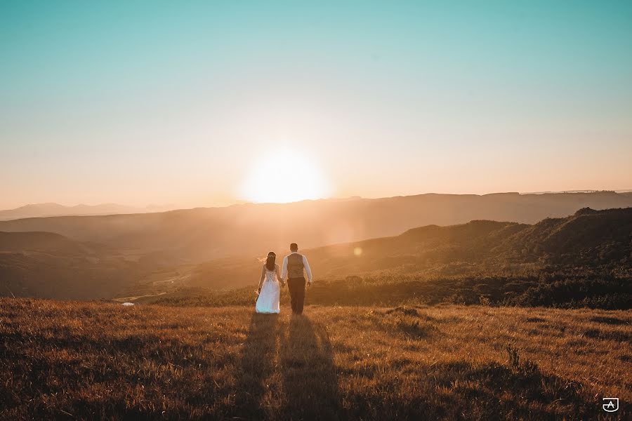
[[242, 185], [242, 199], [256, 203], [288, 203], [322, 199], [329, 183], [312, 159], [293, 151], [260, 156]]

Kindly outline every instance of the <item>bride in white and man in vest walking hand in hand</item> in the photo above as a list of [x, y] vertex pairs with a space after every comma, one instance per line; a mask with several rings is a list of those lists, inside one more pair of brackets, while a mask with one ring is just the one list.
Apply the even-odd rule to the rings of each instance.
[[290, 291], [292, 312], [294, 314], [303, 313], [303, 302], [305, 301], [305, 276], [303, 269], [308, 274], [308, 286], [312, 285], [312, 271], [310, 264], [304, 255], [298, 254], [298, 245], [290, 244], [291, 254], [283, 259], [283, 269], [279, 274], [279, 265], [275, 263], [277, 255], [270, 251], [265, 265], [261, 268], [261, 279], [259, 279], [258, 297], [255, 305], [257, 313], [278, 314], [279, 294], [281, 286], [284, 286], [284, 279], [287, 274], [287, 288]]

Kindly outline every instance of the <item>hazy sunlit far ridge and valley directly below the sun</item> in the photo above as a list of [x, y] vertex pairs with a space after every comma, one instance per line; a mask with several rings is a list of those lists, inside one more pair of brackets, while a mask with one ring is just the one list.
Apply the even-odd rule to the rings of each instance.
[[327, 199], [297, 203], [246, 203], [164, 213], [27, 218], [0, 222], [5, 232], [55, 232], [102, 243], [163, 265], [393, 236], [423, 225], [470, 220], [532, 224], [572, 215], [580, 208], [626, 208], [631, 193], [421, 194], [383, 199]]

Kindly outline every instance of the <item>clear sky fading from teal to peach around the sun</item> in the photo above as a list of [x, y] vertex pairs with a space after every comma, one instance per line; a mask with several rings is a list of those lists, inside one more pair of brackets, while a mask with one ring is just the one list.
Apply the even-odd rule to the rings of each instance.
[[0, 1], [0, 208], [632, 189], [631, 162], [630, 1]]

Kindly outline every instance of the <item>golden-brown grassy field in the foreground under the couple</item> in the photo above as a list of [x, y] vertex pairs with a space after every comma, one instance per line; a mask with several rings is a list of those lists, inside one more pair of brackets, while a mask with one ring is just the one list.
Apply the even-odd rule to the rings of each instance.
[[630, 311], [288, 310], [1, 299], [0, 419], [605, 419], [603, 396], [632, 410]]

